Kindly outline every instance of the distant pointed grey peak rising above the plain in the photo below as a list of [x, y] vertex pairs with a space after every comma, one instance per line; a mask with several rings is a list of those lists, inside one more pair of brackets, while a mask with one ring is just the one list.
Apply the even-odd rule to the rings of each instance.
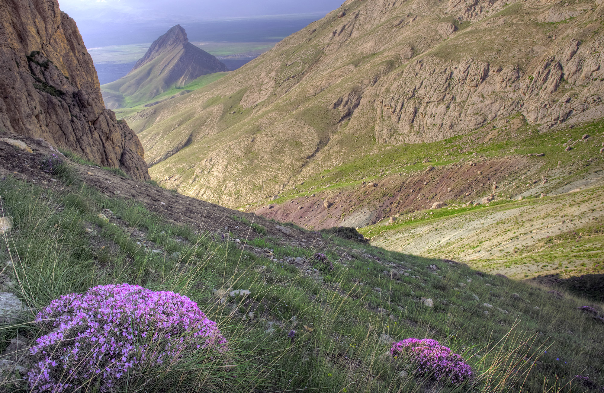
[[173, 86], [182, 87], [202, 75], [227, 71], [216, 57], [188, 42], [181, 25], [153, 42], [125, 77], [102, 86], [108, 108], [129, 107], [150, 100]]

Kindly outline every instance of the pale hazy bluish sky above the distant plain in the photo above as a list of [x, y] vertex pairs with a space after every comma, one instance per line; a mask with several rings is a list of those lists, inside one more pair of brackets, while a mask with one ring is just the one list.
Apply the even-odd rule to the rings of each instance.
[[59, 0], [76, 21], [199, 21], [275, 14], [327, 13], [344, 0]]

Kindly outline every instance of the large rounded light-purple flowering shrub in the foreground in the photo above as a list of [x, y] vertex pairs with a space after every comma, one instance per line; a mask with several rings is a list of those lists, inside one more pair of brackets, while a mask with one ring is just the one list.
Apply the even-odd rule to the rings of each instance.
[[37, 339], [31, 391], [63, 392], [98, 383], [110, 391], [149, 366], [172, 363], [226, 340], [196, 302], [129, 284], [98, 286], [53, 300], [38, 313], [50, 333]]

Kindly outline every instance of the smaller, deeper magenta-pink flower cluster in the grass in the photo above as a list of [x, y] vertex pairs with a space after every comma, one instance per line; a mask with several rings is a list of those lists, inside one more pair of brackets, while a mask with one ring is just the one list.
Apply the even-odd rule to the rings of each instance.
[[408, 359], [417, 364], [417, 371], [437, 380], [460, 383], [472, 377], [472, 368], [461, 356], [440, 345], [437, 340], [409, 338], [395, 342], [390, 349], [394, 358]]

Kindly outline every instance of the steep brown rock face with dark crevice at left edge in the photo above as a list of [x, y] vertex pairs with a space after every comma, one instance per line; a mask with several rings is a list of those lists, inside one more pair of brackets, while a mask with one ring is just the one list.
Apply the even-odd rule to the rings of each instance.
[[57, 0], [0, 0], [0, 132], [44, 138], [149, 179], [141, 142], [104, 108], [76, 22]]

